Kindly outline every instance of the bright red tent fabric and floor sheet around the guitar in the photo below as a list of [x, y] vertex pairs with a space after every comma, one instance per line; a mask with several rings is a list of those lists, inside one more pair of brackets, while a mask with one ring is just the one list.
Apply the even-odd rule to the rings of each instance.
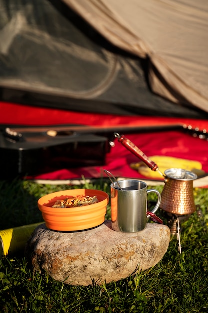
[[[18, 125], [55, 125], [83, 124], [89, 126], [159, 126], [186, 124], [192, 128], [208, 129], [208, 121], [188, 118], [146, 117], [146, 116], [115, 116], [110, 114], [92, 114], [58, 110], [43, 107], [0, 102], [0, 123]], [[123, 133], [125, 134], [125, 133]], [[202, 169], [208, 172], [208, 141], [193, 137], [181, 130], [165, 130], [151, 133], [126, 134], [136, 146], [147, 156], [166, 155], [201, 162]], [[36, 175], [35, 179], [66, 180], [82, 177], [99, 178], [103, 169], [115, 176], [144, 178], [136, 170], [130, 168], [130, 163], [140, 161], [115, 139], [115, 147], [106, 155], [106, 165], [63, 168], [58, 171]], [[145, 177], [146, 178], [146, 177]]]

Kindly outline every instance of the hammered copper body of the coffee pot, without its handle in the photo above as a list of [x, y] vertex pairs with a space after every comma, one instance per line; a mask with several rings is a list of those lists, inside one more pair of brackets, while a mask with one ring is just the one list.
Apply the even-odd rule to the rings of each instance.
[[164, 173], [166, 179], [160, 208], [176, 215], [192, 214], [196, 210], [193, 180], [197, 179], [197, 175], [178, 168], [167, 169]]

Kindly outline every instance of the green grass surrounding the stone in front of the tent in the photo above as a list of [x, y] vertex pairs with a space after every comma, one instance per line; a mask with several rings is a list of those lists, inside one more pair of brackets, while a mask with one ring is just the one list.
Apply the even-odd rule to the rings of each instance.
[[[109, 193], [109, 183], [102, 180], [81, 187]], [[1, 181], [0, 229], [41, 222], [38, 198], [70, 188], [80, 186]], [[162, 186], [156, 188], [162, 191]], [[33, 272], [23, 254], [3, 257], [0, 312], [208, 312], [208, 190], [194, 189], [194, 197], [203, 218], [194, 212], [181, 223], [182, 253], [178, 252], [176, 236], [171, 236], [168, 250], [157, 265], [117, 282], [66, 285], [46, 272]], [[110, 206], [106, 218], [110, 218]]]

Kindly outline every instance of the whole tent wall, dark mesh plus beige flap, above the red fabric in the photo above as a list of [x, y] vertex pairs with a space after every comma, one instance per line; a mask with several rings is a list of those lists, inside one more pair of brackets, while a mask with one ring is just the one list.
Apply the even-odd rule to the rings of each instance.
[[[170, 28], [176, 19], [169, 27], [162, 23], [169, 3], [0, 0], [0, 99], [80, 112], [207, 118], [208, 40], [204, 31], [194, 37], [206, 9], [197, 26], [201, 1], [193, 7], [191, 46], [183, 20], [176, 36]], [[189, 55], [180, 54], [185, 49]]]

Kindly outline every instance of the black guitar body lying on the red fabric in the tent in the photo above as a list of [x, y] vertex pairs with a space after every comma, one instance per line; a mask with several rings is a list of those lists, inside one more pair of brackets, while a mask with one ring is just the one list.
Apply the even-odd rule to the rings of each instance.
[[1, 178], [37, 175], [62, 168], [99, 166], [105, 163], [108, 138], [93, 133], [51, 130], [17, 132], [5, 127], [0, 132]]

